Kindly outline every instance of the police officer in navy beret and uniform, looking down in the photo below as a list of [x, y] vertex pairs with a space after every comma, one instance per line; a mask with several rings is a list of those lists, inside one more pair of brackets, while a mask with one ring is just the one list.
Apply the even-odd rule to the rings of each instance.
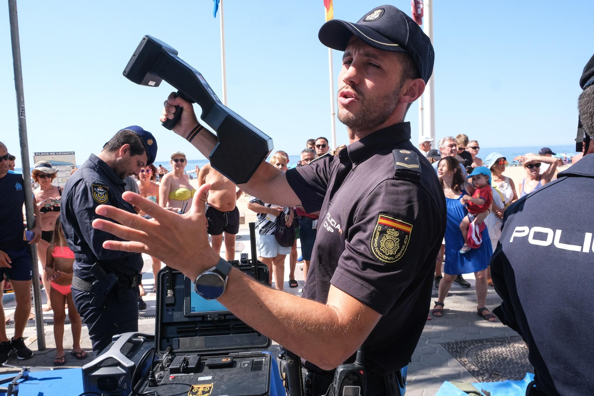
[[118, 131], [99, 155], [88, 160], [68, 179], [62, 192], [60, 220], [68, 246], [74, 252], [72, 299], [89, 328], [94, 354], [111, 342], [112, 335], [138, 331], [137, 289], [143, 258], [140, 254], [104, 249], [114, 236], [91, 227], [100, 218], [99, 205], [111, 205], [136, 214], [122, 199], [124, 179], [153, 163], [157, 141], [140, 126]]

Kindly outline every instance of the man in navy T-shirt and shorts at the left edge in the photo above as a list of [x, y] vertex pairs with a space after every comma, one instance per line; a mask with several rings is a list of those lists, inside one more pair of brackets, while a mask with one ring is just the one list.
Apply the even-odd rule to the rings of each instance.
[[[4, 275], [10, 279], [14, 289], [17, 308], [14, 312], [14, 337], [7, 338], [2, 308], [0, 287], [0, 363], [6, 362], [8, 354], [15, 353], [18, 359], [29, 359], [33, 352], [24, 343], [23, 331], [31, 312], [31, 255], [29, 245], [41, 238], [39, 208], [33, 205], [35, 226], [33, 237], [24, 237], [23, 205], [25, 194], [31, 190], [24, 185], [23, 175], [8, 173], [7, 147], [0, 142], [0, 280]], [[27, 242], [29, 241], [29, 242]], [[45, 252], [40, 252], [45, 254]], [[37, 263], [35, 263], [37, 265]]]

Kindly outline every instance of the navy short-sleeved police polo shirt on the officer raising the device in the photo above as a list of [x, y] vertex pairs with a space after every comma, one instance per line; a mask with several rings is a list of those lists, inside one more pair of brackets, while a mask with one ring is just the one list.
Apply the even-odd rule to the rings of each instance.
[[[402, 153], [413, 172], [397, 165]], [[406, 366], [425, 326], [445, 230], [443, 190], [410, 143], [410, 123], [290, 169], [286, 178], [306, 212], [320, 211], [303, 296], [326, 303], [332, 284], [379, 312], [365, 341], [368, 372]]]

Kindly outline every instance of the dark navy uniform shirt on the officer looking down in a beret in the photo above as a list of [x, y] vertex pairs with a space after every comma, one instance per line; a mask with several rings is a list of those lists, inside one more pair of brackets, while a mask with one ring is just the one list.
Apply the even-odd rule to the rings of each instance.
[[140, 273], [143, 267], [141, 254], [104, 249], [103, 242], [106, 240], [122, 239], [91, 226], [95, 218], [110, 220], [95, 213], [95, 208], [102, 204], [136, 213], [134, 207], [122, 199], [125, 186], [124, 180], [94, 154], [84, 161], [64, 186], [60, 220], [68, 246], [74, 252], [74, 275], [77, 277], [90, 280], [89, 268], [95, 262], [99, 262], [106, 271], [125, 275]]

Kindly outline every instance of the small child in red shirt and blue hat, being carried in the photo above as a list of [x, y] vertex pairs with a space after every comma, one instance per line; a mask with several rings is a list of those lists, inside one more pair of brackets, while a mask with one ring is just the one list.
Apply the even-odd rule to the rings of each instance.
[[460, 198], [462, 204], [466, 204], [468, 208], [468, 216], [463, 218], [460, 223], [460, 230], [465, 240], [464, 246], [460, 249], [460, 253], [466, 253], [470, 250], [470, 246], [467, 243], [468, 229], [470, 223], [475, 220], [475, 217], [479, 213], [489, 210], [493, 202], [493, 192], [491, 190], [491, 170], [486, 166], [478, 166], [473, 170], [469, 178], [472, 177], [472, 185], [476, 187], [475, 193], [470, 195], [463, 195]]

